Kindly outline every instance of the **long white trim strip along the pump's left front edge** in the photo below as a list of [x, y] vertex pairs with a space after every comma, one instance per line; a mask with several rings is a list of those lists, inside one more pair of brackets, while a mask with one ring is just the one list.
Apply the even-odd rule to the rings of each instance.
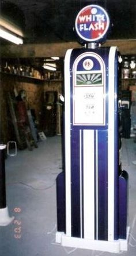
[[71, 157], [70, 157], [70, 56], [65, 56], [65, 178], [66, 178], [66, 235], [71, 236]]

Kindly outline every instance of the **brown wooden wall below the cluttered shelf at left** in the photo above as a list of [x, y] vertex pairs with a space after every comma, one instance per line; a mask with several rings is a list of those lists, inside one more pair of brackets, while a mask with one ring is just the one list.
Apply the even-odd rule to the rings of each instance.
[[[44, 106], [44, 93], [46, 91], [57, 91], [58, 94], [62, 92], [61, 81], [35, 81], [26, 80], [26, 78], [16, 77], [14, 75], [1, 75], [0, 83], [0, 121], [2, 131], [2, 141], [7, 143], [9, 140], [15, 139], [14, 128], [12, 123], [12, 117], [9, 111], [8, 93], [14, 95], [14, 89], [17, 92], [25, 90], [27, 93], [27, 107], [28, 109], [34, 109], [36, 113], [36, 121], [38, 122], [38, 129], [42, 131], [42, 124], [44, 117], [43, 106]], [[58, 132], [58, 118], [56, 134]]]

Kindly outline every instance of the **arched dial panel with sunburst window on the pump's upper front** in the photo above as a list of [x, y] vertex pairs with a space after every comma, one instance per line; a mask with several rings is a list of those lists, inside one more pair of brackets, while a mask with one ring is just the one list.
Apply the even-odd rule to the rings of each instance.
[[104, 95], [103, 59], [95, 52], [82, 53], [73, 65], [73, 125], [105, 125]]

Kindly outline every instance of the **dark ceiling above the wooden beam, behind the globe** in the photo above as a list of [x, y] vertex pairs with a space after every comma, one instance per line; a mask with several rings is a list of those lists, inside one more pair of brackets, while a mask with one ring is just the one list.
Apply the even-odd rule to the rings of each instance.
[[107, 9], [108, 39], [136, 38], [135, 0], [0, 0], [2, 16], [25, 34], [24, 43], [77, 41], [73, 27], [77, 13], [91, 3]]

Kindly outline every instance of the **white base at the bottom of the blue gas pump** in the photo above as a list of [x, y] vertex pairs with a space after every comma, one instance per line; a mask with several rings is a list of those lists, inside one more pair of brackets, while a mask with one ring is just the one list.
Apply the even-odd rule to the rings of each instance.
[[114, 241], [89, 240], [77, 237], [66, 236], [63, 232], [56, 232], [56, 243], [61, 243], [62, 246], [82, 248], [96, 251], [107, 251], [109, 253], [119, 253], [127, 251], [129, 240], [129, 230], [127, 228], [127, 239], [119, 239]]

